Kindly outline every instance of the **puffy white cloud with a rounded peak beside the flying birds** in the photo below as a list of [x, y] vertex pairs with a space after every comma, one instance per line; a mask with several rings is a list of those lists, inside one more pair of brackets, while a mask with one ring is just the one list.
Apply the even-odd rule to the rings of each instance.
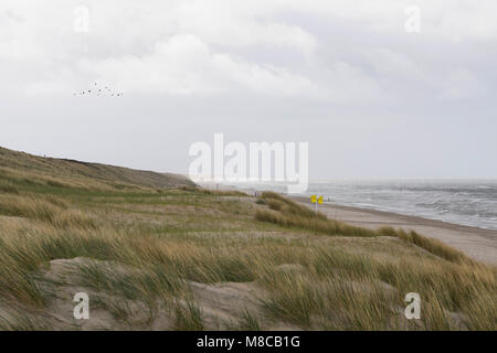
[[140, 57], [83, 60], [78, 67], [128, 93], [209, 95], [247, 89], [256, 94], [310, 96], [318, 92], [304, 76], [214, 53], [192, 34], [162, 40], [151, 53]]

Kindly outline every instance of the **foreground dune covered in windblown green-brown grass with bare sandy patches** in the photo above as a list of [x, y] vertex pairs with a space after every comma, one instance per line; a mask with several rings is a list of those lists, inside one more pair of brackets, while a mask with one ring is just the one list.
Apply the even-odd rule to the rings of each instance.
[[[0, 164], [1, 330], [497, 329], [496, 268], [414, 232], [18, 157]], [[73, 318], [81, 291], [87, 321]]]

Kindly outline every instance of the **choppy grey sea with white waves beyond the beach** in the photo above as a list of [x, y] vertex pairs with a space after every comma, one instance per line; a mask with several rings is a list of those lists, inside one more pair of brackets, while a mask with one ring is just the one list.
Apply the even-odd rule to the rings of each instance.
[[[252, 186], [285, 191], [275, 183]], [[497, 231], [497, 180], [315, 180], [305, 193], [311, 194], [325, 203]]]

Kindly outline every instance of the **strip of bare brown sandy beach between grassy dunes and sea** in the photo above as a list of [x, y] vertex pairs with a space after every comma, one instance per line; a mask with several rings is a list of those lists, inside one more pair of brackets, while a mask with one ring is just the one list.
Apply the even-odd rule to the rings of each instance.
[[[308, 197], [294, 196], [293, 199], [314, 207]], [[368, 228], [392, 226], [405, 231], [412, 229], [444, 242], [476, 260], [497, 265], [497, 231], [335, 204], [319, 205], [319, 211], [330, 218], [357, 226]]]

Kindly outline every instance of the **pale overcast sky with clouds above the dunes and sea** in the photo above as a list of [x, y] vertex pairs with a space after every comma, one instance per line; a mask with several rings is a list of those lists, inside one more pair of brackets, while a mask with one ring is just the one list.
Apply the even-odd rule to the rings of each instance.
[[495, 0], [1, 0], [0, 146], [187, 172], [223, 132], [308, 141], [310, 178], [497, 178], [496, 63]]

